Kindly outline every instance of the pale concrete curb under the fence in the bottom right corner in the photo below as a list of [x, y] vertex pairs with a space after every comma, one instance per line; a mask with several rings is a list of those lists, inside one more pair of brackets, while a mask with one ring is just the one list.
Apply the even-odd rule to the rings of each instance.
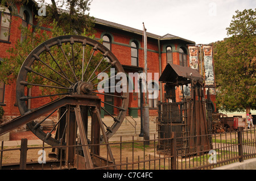
[[256, 170], [256, 158], [246, 159], [243, 162], [236, 162], [212, 170]]

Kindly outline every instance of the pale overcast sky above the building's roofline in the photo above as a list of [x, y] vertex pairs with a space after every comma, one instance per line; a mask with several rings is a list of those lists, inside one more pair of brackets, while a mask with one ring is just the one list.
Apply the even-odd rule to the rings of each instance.
[[223, 40], [236, 10], [255, 9], [255, 0], [93, 0], [90, 15], [159, 36], [170, 33], [196, 44]]

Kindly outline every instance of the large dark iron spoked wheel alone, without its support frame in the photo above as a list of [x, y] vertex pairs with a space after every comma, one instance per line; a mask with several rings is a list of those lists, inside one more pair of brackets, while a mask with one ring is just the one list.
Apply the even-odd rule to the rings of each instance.
[[[103, 123], [106, 136], [110, 138], [122, 124], [129, 102], [127, 91], [108, 94], [97, 90], [99, 83], [97, 75], [103, 72], [108, 73], [110, 68], [115, 68], [117, 73], [124, 72], [114, 54], [96, 40], [76, 35], [49, 39], [32, 50], [20, 68], [16, 83], [16, 100], [19, 111], [21, 115], [26, 115], [26, 113], [35, 111], [64, 96], [97, 95], [100, 98], [105, 95], [113, 96], [115, 103], [118, 104], [109, 104], [109, 106], [114, 107], [116, 116], [104, 110], [103, 105], [106, 103], [101, 99], [102, 110], [109, 113], [113, 119], [112, 125]], [[29, 105], [32, 107], [29, 108]], [[52, 110], [39, 122], [31, 121], [27, 126], [47, 144], [60, 145], [59, 138], [52, 136], [51, 133], [53, 128], [63, 121], [61, 117], [67, 114], [67, 111], [71, 110], [67, 109], [62, 112], [60, 109]], [[88, 111], [90, 111], [90, 107]], [[57, 112], [59, 112], [59, 120], [55, 127], [51, 131], [43, 131], [40, 125], [47, 117], [56, 115]]]

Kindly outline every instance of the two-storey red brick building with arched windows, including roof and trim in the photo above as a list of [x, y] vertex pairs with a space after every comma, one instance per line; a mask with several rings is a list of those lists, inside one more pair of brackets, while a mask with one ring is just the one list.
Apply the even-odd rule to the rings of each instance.
[[[18, 28], [20, 24], [22, 24], [22, 26], [36, 26], [35, 15], [38, 12], [35, 7], [35, 2], [30, 1], [28, 5], [20, 6], [16, 4], [6, 10], [1, 8], [3, 14], [1, 14], [0, 58], [7, 57], [8, 54], [6, 50], [13, 47], [16, 40], [23, 38]], [[10, 12], [15, 13], [11, 14]], [[10, 23], [5, 23], [5, 18], [10, 19]], [[103, 44], [118, 58], [127, 75], [143, 70], [143, 31], [102, 19], [96, 18], [95, 20], [94, 28], [96, 30], [96, 39], [103, 39]], [[10, 32], [9, 36], [3, 35], [6, 31]], [[195, 44], [195, 42], [168, 33], [164, 36], [159, 36], [147, 32], [147, 72], [152, 73], [152, 80], [148, 81], [158, 83], [160, 73], [162, 73], [166, 67], [167, 62], [170, 64], [188, 66], [188, 44]], [[154, 73], [159, 73], [159, 77], [154, 77]], [[35, 90], [32, 90], [32, 92], [33, 91]], [[130, 92], [129, 94], [129, 111], [127, 112], [129, 112], [130, 115], [137, 116], [140, 113], [139, 105], [141, 98], [136, 91]], [[181, 100], [180, 94], [181, 90], [177, 87], [177, 102]], [[163, 96], [164, 87], [160, 85], [158, 98], [148, 100], [150, 115], [156, 115], [156, 103], [162, 101]], [[106, 102], [113, 102], [113, 98], [112, 100], [107, 100], [107, 97], [104, 99]], [[5, 116], [19, 115], [19, 110], [15, 102], [15, 82], [11, 85], [0, 83], [0, 106], [4, 108]], [[110, 112], [112, 111], [107, 105], [105, 105], [105, 108], [110, 109]], [[112, 111], [112, 113], [114, 112]]]

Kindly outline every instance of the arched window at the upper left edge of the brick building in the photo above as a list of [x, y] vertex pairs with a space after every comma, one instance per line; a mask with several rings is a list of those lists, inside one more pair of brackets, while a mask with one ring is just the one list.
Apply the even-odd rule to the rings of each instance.
[[9, 41], [9, 32], [10, 32], [10, 24], [11, 24], [10, 10], [7, 9], [7, 7], [0, 6], [0, 17], [1, 17], [0, 40]]

